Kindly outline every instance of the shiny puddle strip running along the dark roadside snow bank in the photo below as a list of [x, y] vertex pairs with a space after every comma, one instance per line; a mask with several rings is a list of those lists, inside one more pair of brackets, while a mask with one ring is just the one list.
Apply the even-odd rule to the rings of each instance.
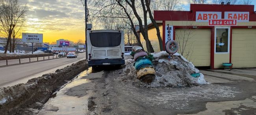
[[[103, 71], [92, 73], [89, 68], [67, 83], [46, 102], [38, 115], [83, 115], [88, 113], [88, 100], [95, 89], [90, 79], [101, 78]], [[93, 105], [93, 104], [91, 104]]]

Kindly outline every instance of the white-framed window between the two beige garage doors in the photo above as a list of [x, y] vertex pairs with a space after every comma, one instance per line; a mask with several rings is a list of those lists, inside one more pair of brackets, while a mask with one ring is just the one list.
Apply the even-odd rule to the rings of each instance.
[[215, 28], [215, 53], [229, 53], [229, 28]]

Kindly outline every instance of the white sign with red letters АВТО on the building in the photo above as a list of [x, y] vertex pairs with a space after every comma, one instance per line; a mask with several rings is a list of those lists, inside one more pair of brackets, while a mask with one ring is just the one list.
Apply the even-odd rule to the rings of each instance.
[[212, 19], [221, 19], [221, 12], [214, 11], [197, 11], [196, 22], [208, 22]]

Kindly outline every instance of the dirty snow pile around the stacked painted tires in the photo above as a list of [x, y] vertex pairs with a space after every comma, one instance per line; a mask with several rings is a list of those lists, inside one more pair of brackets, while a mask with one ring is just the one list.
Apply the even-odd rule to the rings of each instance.
[[[175, 53], [174, 59], [171, 57], [170, 61], [168, 60], [169, 54], [165, 51], [152, 53], [152, 55], [154, 57], [152, 63], [156, 70], [156, 78], [152, 83], [147, 84], [147, 87], [178, 87], [209, 84], [204, 80], [203, 74], [200, 74], [198, 78], [190, 75], [198, 73], [199, 70], [180, 54]], [[136, 79], [136, 70], [133, 64], [134, 60], [126, 60], [124, 71], [128, 79]], [[139, 82], [138, 80], [135, 81]]]

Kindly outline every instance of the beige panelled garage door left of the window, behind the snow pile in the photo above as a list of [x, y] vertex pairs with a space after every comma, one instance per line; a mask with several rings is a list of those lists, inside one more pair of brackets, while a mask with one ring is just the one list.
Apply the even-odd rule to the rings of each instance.
[[[185, 42], [187, 41], [186, 47], [183, 45], [183, 39]], [[175, 41], [180, 44], [178, 53], [181, 54], [183, 49], [184, 58], [191, 61], [195, 66], [210, 66], [210, 29], [176, 29]]]

